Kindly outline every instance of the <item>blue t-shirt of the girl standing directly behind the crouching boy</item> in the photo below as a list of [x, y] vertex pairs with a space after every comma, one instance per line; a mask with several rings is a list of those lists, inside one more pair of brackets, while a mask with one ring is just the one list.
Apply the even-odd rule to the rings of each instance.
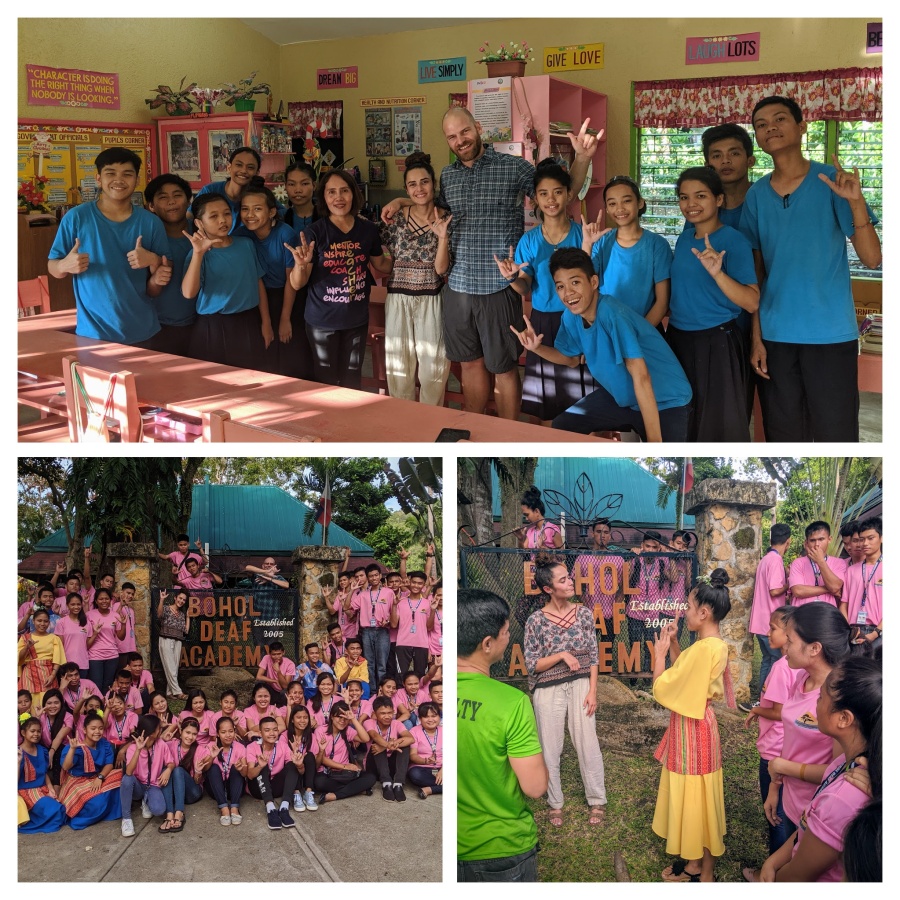
[[603, 235], [591, 250], [603, 293], [646, 316], [656, 303], [656, 285], [669, 277], [672, 249], [661, 235], [644, 229], [633, 247], [623, 247], [616, 232]]

